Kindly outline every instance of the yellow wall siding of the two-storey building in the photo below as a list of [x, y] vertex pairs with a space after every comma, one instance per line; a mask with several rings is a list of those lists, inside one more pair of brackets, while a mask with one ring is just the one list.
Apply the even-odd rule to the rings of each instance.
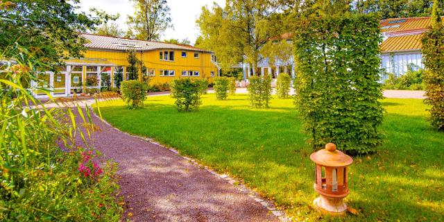
[[[160, 51], [174, 51], [174, 61], [160, 60]], [[199, 58], [194, 58], [194, 51], [186, 51], [187, 57], [182, 58], [182, 51], [164, 49], [155, 51], [137, 52], [137, 58], [144, 62], [144, 66], [148, 69], [155, 69], [155, 76], [151, 78], [151, 85], [161, 83], [169, 83], [175, 78], [206, 78], [212, 82], [211, 71], [214, 76], [218, 74], [218, 68], [211, 62], [211, 53], [199, 53]], [[119, 51], [99, 51], [88, 50], [85, 58], [105, 59], [118, 66], [128, 66], [128, 53]], [[174, 70], [175, 76], [160, 76], [160, 70]], [[199, 71], [200, 76], [183, 77], [182, 71]], [[123, 79], [126, 79], [126, 69]]]

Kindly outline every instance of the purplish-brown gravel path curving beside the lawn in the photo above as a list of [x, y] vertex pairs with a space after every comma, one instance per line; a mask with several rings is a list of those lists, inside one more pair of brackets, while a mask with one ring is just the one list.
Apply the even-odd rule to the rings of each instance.
[[[92, 145], [119, 163], [122, 221], [278, 221], [248, 194], [180, 155], [97, 117], [94, 123], [101, 132]], [[80, 138], [76, 143], [83, 144]]]

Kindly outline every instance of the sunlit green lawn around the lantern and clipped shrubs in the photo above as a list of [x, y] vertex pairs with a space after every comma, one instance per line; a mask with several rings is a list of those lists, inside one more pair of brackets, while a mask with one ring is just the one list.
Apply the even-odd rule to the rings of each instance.
[[[444, 133], [429, 128], [417, 99], [384, 99], [386, 141], [377, 153], [354, 157], [345, 221], [444, 221]], [[179, 113], [169, 96], [149, 97], [145, 108], [101, 103], [104, 119], [123, 131], [153, 137], [220, 173], [254, 187], [295, 219], [325, 220], [310, 205], [314, 164], [293, 100], [273, 99], [250, 109], [246, 95], [216, 101], [203, 96], [198, 112]], [[341, 147], [339, 147], [341, 149]]]

